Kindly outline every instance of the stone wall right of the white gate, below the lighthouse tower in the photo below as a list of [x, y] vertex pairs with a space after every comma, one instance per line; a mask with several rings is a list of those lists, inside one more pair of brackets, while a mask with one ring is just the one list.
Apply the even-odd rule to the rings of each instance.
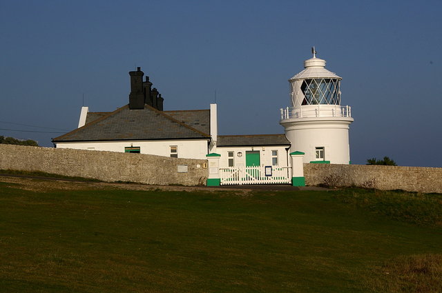
[[304, 164], [306, 185], [320, 185], [332, 174], [338, 186], [442, 193], [442, 168]]

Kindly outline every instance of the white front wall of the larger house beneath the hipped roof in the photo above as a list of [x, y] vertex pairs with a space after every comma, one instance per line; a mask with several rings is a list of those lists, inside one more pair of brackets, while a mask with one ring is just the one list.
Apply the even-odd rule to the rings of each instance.
[[176, 145], [178, 158], [206, 159], [206, 140], [179, 141], [92, 141], [81, 143], [57, 143], [57, 148], [72, 148], [77, 150], [106, 150], [109, 152], [124, 152], [125, 147], [140, 147], [142, 154], [170, 156], [171, 145]]

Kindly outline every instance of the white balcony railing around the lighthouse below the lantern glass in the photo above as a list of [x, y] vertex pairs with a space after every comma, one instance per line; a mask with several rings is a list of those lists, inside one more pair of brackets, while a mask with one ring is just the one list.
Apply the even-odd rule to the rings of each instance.
[[323, 107], [317, 105], [309, 108], [281, 108], [281, 120], [285, 119], [298, 119], [298, 118], [311, 118], [311, 117], [352, 117], [352, 107], [349, 105], [336, 106], [336, 107]]

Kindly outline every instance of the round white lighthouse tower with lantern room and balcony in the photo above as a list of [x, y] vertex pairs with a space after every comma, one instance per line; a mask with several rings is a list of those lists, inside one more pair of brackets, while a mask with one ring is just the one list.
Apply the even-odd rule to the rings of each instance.
[[351, 108], [340, 105], [340, 80], [325, 69], [325, 60], [304, 61], [304, 70], [289, 79], [291, 106], [281, 109], [280, 124], [290, 152], [304, 152], [304, 163], [348, 164]]

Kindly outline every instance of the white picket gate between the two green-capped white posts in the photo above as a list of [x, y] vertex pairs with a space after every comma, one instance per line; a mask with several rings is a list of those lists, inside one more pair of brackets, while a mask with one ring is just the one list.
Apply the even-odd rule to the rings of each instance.
[[220, 168], [221, 185], [291, 183], [291, 168], [249, 166]]

